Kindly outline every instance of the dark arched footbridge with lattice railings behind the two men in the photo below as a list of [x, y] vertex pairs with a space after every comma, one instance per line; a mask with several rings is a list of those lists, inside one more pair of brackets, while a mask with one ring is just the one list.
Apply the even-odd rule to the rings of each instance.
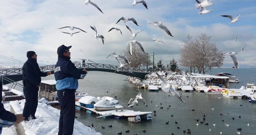
[[[87, 71], [103, 71], [103, 72], [111, 72], [117, 74], [123, 74], [126, 76], [133, 76], [137, 78], [144, 79], [146, 74], [152, 73], [152, 69], [142, 69], [142, 68], [119, 68], [119, 66], [111, 65], [111, 64], [99, 64], [99, 63], [83, 63], [73, 62], [76, 68], [83, 70], [84, 68]], [[47, 65], [40, 66], [40, 70], [42, 72], [51, 71], [54, 74], [55, 65]], [[129, 73], [132, 72], [132, 73]], [[3, 79], [5, 78], [5, 79]], [[6, 79], [8, 78], [8, 79]], [[0, 79], [4, 84], [9, 84], [11, 81], [21, 81], [22, 80], [22, 68], [10, 68], [10, 69], [0, 69]]]

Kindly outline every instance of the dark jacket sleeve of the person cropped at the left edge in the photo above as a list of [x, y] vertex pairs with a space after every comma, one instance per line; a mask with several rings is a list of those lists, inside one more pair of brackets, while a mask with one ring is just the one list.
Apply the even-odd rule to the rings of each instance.
[[2, 104], [2, 82], [0, 81], [0, 127], [10, 127], [15, 124], [16, 116], [10, 111], [6, 111]]

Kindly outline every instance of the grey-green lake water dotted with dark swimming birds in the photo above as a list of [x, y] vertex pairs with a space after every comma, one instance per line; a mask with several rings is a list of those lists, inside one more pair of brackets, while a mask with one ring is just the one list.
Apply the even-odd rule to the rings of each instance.
[[[240, 86], [246, 86], [246, 83], [256, 83], [256, 69], [239, 69], [235, 70], [240, 83], [230, 84], [230, 88], [240, 88]], [[213, 75], [220, 72], [233, 73], [233, 69], [213, 69]], [[156, 116], [153, 116], [152, 121], [142, 121], [140, 123], [128, 122], [128, 120], [117, 120], [113, 118], [95, 118], [95, 114], [86, 114], [85, 111], [76, 111], [76, 120], [82, 122], [85, 125], [97, 125], [97, 132], [103, 135], [117, 135], [122, 132], [124, 135], [171, 135], [173, 132], [175, 135], [186, 135], [183, 130], [189, 128], [191, 135], [218, 135], [222, 131], [223, 135], [237, 135], [237, 128], [242, 128], [241, 135], [255, 135], [256, 134], [256, 104], [249, 103], [248, 100], [242, 99], [228, 99], [222, 95], [206, 95], [206, 93], [183, 92], [183, 100], [186, 104], [182, 103], [174, 96], [168, 96], [170, 93], [163, 91], [149, 92], [144, 89], [140, 89], [142, 97], [147, 101], [147, 107], [143, 106], [141, 100], [139, 105], [133, 108], [127, 108], [127, 103], [130, 98], [135, 98], [137, 88], [134, 84], [130, 84], [125, 81], [127, 76], [120, 74], [106, 73], [90, 71], [83, 80], [79, 80], [78, 91], [89, 93], [91, 96], [117, 96], [119, 104], [124, 106], [124, 109], [134, 111], [152, 111], [156, 110]], [[54, 79], [54, 75], [42, 78]], [[107, 93], [107, 91], [109, 91]], [[189, 96], [189, 97], [187, 97]], [[216, 96], [221, 99], [214, 98]], [[152, 103], [150, 102], [152, 101]], [[160, 105], [162, 103], [162, 105]], [[157, 107], [156, 107], [157, 105]], [[168, 105], [171, 105], [167, 109]], [[242, 105], [242, 106], [240, 106]], [[160, 109], [163, 107], [163, 109]], [[212, 110], [211, 108], [214, 108]], [[195, 111], [192, 111], [195, 109]], [[220, 113], [223, 115], [221, 116]], [[171, 117], [173, 115], [173, 117]], [[203, 120], [203, 115], [206, 120]], [[239, 118], [239, 115], [241, 118]], [[232, 120], [232, 118], [235, 120]], [[194, 119], [200, 119], [196, 122]], [[222, 122], [224, 120], [224, 122]], [[169, 121], [167, 125], [166, 122]], [[175, 121], [178, 124], [175, 124]], [[204, 123], [209, 125], [204, 125]], [[196, 123], [199, 123], [197, 126]], [[216, 126], [213, 126], [213, 123]], [[249, 126], [247, 124], [249, 123]], [[224, 124], [229, 124], [229, 127]], [[112, 128], [108, 126], [112, 125]], [[101, 126], [105, 127], [102, 129]], [[180, 127], [180, 129], [177, 129]], [[212, 131], [209, 131], [209, 128]], [[130, 130], [130, 133], [125, 133], [126, 130]], [[146, 132], [142, 132], [146, 130]]]

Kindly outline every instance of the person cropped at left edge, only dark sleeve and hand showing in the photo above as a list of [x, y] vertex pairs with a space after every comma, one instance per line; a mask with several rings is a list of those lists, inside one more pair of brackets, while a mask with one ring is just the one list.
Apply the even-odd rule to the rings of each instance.
[[3, 85], [0, 80], [0, 135], [2, 133], [3, 127], [11, 127], [14, 124], [19, 124], [24, 119], [22, 114], [15, 115], [15, 114], [11, 113], [10, 111], [6, 111], [3, 108], [2, 90], [3, 90]]

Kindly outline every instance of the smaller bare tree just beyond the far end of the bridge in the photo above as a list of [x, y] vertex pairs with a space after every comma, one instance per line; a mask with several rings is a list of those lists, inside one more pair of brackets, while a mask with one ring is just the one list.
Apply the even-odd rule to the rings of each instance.
[[[144, 53], [139, 46], [133, 45], [132, 46], [132, 55], [129, 53], [128, 46], [123, 51], [127, 59], [131, 62], [129, 65], [131, 68], [137, 68], [139, 65], [144, 64], [144, 66], [147, 64], [147, 54]], [[152, 65], [152, 62], [150, 59], [148, 59], [148, 64]]]

